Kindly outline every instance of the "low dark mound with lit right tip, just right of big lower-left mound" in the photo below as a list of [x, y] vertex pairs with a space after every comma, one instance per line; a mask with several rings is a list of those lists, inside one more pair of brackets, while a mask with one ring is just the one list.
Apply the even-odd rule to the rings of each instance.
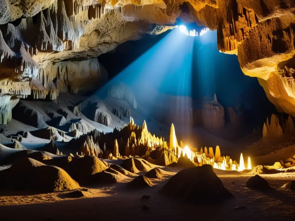
[[91, 176], [93, 184], [112, 184], [122, 182], [126, 176], [123, 174], [114, 174], [113, 172], [102, 171]]

